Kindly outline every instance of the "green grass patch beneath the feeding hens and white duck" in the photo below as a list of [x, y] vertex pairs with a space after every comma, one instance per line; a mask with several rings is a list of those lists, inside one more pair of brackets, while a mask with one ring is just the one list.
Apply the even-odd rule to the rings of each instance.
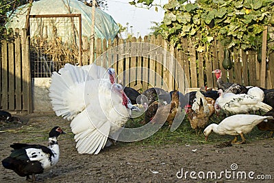
[[[129, 119], [125, 127], [140, 127], [140, 121], [142, 121], [142, 117], [136, 119]], [[220, 123], [224, 117], [216, 116], [215, 114], [211, 117], [210, 123]], [[249, 134], [245, 134], [245, 138], [247, 138], [247, 142], [256, 141], [258, 139], [264, 138], [265, 134], [269, 132], [262, 132], [258, 130], [257, 127], [254, 127], [253, 130]], [[169, 129], [169, 125], [164, 124], [158, 132], [145, 138], [142, 141], [136, 141], [132, 144], [134, 145], [164, 145], [164, 144], [176, 144], [176, 145], [202, 145], [202, 144], [211, 144], [216, 145], [219, 143], [224, 143], [227, 141], [232, 141], [234, 136], [229, 135], [219, 135], [212, 132], [208, 137], [208, 141], [205, 141], [205, 136], [203, 135], [203, 130], [196, 134], [195, 130], [190, 127], [190, 122], [187, 117], [184, 118], [184, 121], [179, 125], [179, 127], [171, 132]], [[238, 141], [240, 141], [240, 136], [238, 136]], [[121, 143], [121, 145], [128, 145], [128, 143]]]

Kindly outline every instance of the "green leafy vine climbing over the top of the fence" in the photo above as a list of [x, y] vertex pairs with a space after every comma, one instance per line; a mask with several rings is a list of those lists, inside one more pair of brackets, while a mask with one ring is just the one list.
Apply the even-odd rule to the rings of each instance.
[[[151, 5], [152, 0], [135, 3]], [[274, 23], [273, 0], [173, 0], [166, 10], [161, 34], [173, 47], [182, 49], [188, 38], [197, 51], [208, 51], [214, 37], [226, 48], [258, 49], [265, 25]]]

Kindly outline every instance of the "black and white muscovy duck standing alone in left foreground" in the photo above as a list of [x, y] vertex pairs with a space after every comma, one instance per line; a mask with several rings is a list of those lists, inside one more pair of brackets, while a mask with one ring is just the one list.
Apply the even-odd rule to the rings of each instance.
[[[13, 150], [8, 158], [2, 160], [3, 167], [35, 182], [35, 174], [48, 171], [57, 164], [60, 155], [57, 138], [60, 134], [65, 134], [61, 127], [53, 127], [49, 132], [49, 147], [23, 143], [10, 145]], [[32, 175], [32, 179], [29, 175]]]

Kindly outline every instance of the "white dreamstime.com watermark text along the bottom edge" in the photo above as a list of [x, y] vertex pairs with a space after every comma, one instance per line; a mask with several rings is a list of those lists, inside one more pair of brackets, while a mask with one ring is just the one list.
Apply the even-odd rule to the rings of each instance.
[[178, 179], [193, 179], [193, 180], [271, 180], [271, 175], [258, 174], [255, 171], [238, 171], [238, 164], [233, 163], [230, 169], [224, 171], [186, 171], [182, 168], [177, 171], [176, 177]]

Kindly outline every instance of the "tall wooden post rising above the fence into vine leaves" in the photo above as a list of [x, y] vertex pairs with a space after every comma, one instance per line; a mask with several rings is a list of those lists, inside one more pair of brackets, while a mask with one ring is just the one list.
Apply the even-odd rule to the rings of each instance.
[[267, 25], [262, 32], [262, 68], [261, 68], [261, 87], [266, 88], [266, 43], [267, 43]]

